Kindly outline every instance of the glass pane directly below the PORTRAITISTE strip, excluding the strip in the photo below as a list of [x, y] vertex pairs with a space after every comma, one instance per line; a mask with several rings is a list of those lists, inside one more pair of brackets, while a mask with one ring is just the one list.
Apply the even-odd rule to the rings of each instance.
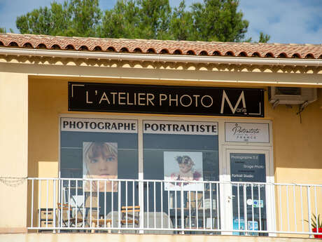
[[146, 182], [144, 212], [167, 213], [174, 228], [218, 229], [218, 184], [200, 182], [219, 180], [218, 157], [217, 134], [144, 133], [144, 179], [171, 181]]

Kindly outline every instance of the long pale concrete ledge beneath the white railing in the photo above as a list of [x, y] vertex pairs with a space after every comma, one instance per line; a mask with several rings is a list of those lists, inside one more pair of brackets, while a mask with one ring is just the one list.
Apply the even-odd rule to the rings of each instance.
[[257, 236], [209, 236], [209, 235], [158, 235], [158, 234], [0, 234], [0, 242], [302, 242], [312, 241], [314, 238], [285, 238], [285, 237], [257, 237]]

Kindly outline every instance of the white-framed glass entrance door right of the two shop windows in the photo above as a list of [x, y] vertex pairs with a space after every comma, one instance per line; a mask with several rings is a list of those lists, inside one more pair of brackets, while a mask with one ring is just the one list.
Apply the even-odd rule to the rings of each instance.
[[[232, 234], [245, 234], [239, 230], [262, 231], [272, 221], [272, 202], [274, 201], [274, 182], [269, 163], [270, 149], [262, 147], [224, 147], [225, 164], [230, 187], [225, 189], [228, 201], [226, 213], [227, 226]], [[250, 235], [265, 235], [248, 232]]]

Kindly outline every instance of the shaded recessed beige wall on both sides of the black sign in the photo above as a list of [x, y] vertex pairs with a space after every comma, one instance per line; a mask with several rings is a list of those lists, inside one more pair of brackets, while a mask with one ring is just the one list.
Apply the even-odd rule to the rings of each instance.
[[[58, 161], [58, 116], [72, 113], [67, 109], [68, 81], [45, 77], [29, 78], [29, 176], [43, 177], [43, 174], [39, 173], [38, 162]], [[172, 82], [172, 85], [175, 84], [175, 81]], [[190, 83], [193, 84], [197, 83]], [[214, 86], [214, 83], [211, 85]], [[319, 100], [304, 109], [301, 123], [297, 105], [293, 108], [279, 105], [273, 109], [266, 92], [265, 119], [272, 120], [273, 123], [275, 182], [321, 184], [321, 94], [319, 91]], [[76, 113], [82, 114], [82, 112]], [[214, 118], [216, 117], [209, 117]]]

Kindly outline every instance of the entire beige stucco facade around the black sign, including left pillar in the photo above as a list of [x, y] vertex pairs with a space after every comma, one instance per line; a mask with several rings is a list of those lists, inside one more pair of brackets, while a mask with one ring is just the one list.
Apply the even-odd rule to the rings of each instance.
[[[319, 83], [321, 79], [321, 70], [315, 72], [309, 67], [295, 69], [290, 67], [236, 68], [236, 66], [223, 65], [186, 67], [175, 64], [159, 66], [154, 63], [120, 65], [120, 63], [102, 62], [97, 64], [92, 61], [80, 61], [76, 64], [71, 61], [69, 65], [69, 60], [57, 62], [50, 58], [41, 60], [36, 58], [32, 61], [37, 65], [30, 65], [32, 61], [28, 58], [8, 59], [10, 58], [0, 59], [0, 71], [3, 71], [3, 73], [0, 72], [0, 111], [6, 114], [0, 119], [1, 127], [6, 127], [0, 133], [0, 150], [6, 158], [1, 160], [2, 176], [57, 177], [58, 116], [69, 113], [67, 81], [266, 88], [267, 83], [270, 82], [276, 85], [276, 80], [285, 81], [288, 84], [294, 81], [307, 86], [308, 83]], [[3, 63], [6, 61], [10, 63]], [[68, 77], [69, 75], [71, 77]], [[229, 82], [230, 80], [232, 83]], [[253, 81], [253, 83], [246, 83], [247, 81]], [[267, 81], [267, 83], [260, 83], [260, 81]], [[296, 114], [297, 106], [289, 109], [285, 105], [279, 105], [272, 109], [266, 93], [265, 119], [271, 120], [273, 124], [275, 182], [322, 183], [321, 100], [320, 91], [319, 100], [302, 112], [302, 123], [300, 123], [300, 117]], [[77, 113], [81, 114], [81, 112]], [[211, 118], [216, 117], [209, 117]], [[8, 137], [15, 147], [7, 142]], [[16, 147], [20, 152], [11, 152], [17, 150]], [[6, 161], [11, 163], [8, 164]], [[15, 165], [12, 166], [12, 164]], [[1, 192], [5, 191], [7, 194], [8, 191], [8, 201], [10, 201], [0, 202], [0, 205], [3, 205], [0, 208], [3, 214], [6, 216], [11, 213], [19, 214], [17, 218], [10, 216], [8, 221], [0, 220], [0, 228], [26, 227], [30, 221], [28, 212], [30, 198], [28, 207], [25, 204], [27, 199], [24, 199], [27, 196], [26, 185], [22, 184], [15, 189], [5, 187], [1, 183], [0, 186]], [[29, 185], [29, 191], [30, 188]], [[41, 202], [43, 203], [43, 200]]]

